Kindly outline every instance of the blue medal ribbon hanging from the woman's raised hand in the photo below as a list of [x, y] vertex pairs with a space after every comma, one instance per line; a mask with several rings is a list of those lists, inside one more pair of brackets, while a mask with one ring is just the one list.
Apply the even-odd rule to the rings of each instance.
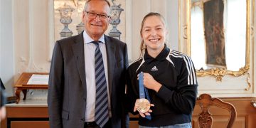
[[[143, 98], [143, 99], [149, 100], [149, 102], [151, 102], [150, 97], [149, 97], [149, 92], [146, 89], [146, 87], [144, 87], [144, 84], [143, 84], [143, 72], [139, 73], [139, 98], [140, 99]], [[145, 118], [150, 120], [151, 116], [146, 115]]]

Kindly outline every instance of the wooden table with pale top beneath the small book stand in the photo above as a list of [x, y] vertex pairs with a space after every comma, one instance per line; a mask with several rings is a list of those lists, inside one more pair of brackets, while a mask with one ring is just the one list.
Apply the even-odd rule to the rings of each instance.
[[50, 128], [47, 99], [21, 100], [6, 104], [6, 118], [1, 128]]

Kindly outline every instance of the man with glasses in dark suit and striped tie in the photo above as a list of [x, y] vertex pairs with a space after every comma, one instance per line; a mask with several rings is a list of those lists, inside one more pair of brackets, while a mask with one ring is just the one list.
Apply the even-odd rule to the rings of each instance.
[[104, 35], [109, 16], [109, 1], [88, 0], [82, 13], [85, 31], [55, 43], [48, 90], [50, 127], [128, 127], [122, 107], [127, 45]]

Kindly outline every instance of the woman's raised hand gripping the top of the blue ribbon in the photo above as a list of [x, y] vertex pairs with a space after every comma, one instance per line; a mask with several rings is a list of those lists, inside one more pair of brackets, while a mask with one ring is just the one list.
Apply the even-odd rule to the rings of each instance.
[[[138, 75], [138, 77], [139, 77], [139, 75]], [[160, 87], [162, 86], [159, 82], [154, 80], [152, 75], [150, 75], [149, 73], [143, 73], [143, 84], [146, 88], [149, 88], [156, 92], [158, 92]]]

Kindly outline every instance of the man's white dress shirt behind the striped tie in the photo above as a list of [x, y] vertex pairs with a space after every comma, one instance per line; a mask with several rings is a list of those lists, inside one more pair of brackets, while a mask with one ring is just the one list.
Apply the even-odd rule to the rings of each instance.
[[[96, 97], [96, 83], [95, 83], [95, 44], [91, 43], [92, 38], [87, 35], [86, 31], [83, 32], [84, 46], [85, 46], [85, 77], [86, 77], [86, 110], [85, 110], [85, 122], [95, 121], [95, 97]], [[108, 72], [107, 72], [107, 50], [105, 45], [105, 36], [100, 37], [99, 43], [100, 51], [102, 53], [105, 76], [107, 80], [107, 97], [108, 97], [108, 109], [109, 116], [111, 117], [110, 107], [110, 91], [108, 87]]]

